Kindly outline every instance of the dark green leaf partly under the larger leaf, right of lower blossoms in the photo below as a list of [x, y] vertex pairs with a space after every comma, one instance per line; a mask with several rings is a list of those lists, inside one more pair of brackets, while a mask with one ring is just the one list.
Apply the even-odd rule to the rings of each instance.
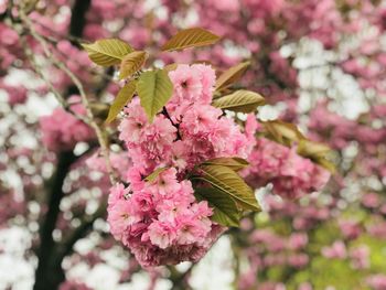
[[240, 212], [232, 197], [216, 187], [195, 189], [194, 195], [197, 201], [207, 201], [213, 207], [212, 221], [223, 226], [239, 226]]

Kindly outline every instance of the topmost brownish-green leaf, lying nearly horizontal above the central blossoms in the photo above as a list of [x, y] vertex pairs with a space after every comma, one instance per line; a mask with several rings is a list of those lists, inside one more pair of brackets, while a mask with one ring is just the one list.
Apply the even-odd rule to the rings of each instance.
[[163, 46], [162, 51], [171, 52], [184, 50], [187, 47], [199, 47], [213, 44], [219, 40], [219, 36], [204, 29], [194, 28], [179, 31]]

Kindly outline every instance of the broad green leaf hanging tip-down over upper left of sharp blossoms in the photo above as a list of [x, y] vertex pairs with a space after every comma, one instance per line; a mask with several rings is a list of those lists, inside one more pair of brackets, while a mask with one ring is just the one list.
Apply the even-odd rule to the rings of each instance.
[[173, 94], [173, 84], [165, 71], [157, 69], [141, 74], [137, 85], [141, 106], [152, 122], [156, 114], [168, 103]]

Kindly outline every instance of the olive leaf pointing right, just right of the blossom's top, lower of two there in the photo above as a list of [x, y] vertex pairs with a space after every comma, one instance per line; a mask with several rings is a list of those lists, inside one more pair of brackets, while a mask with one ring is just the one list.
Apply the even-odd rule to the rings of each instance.
[[262, 96], [245, 89], [236, 90], [235, 93], [217, 98], [212, 103], [214, 107], [240, 112], [255, 111], [258, 106], [264, 104], [265, 99]]

